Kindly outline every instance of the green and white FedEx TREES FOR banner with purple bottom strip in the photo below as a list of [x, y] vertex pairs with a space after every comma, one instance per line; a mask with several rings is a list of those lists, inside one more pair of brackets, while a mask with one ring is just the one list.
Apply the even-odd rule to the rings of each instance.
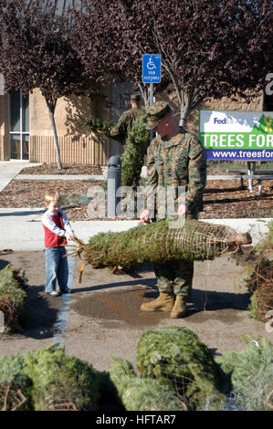
[[273, 111], [199, 110], [207, 160], [273, 161]]

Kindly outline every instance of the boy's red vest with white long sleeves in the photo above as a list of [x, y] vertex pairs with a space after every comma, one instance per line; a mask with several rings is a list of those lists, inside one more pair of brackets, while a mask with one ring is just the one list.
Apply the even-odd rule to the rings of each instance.
[[67, 245], [68, 242], [66, 237], [68, 233], [74, 234], [69, 224], [68, 217], [62, 210], [59, 210], [57, 214], [50, 214], [47, 210], [47, 212], [43, 214], [42, 224], [45, 230], [46, 247]]

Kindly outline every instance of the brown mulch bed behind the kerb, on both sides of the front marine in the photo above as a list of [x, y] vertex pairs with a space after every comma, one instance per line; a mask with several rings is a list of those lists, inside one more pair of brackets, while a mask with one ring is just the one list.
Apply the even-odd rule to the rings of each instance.
[[[22, 173], [52, 174], [57, 171], [56, 164], [43, 164], [28, 167]], [[66, 174], [101, 174], [100, 167], [88, 165], [64, 166]], [[263, 181], [262, 194], [257, 194], [257, 181], [253, 181], [254, 193], [239, 188], [239, 180], [208, 181], [204, 194], [204, 212], [200, 219], [273, 217], [273, 183]], [[101, 186], [102, 182], [91, 181], [46, 181], [13, 180], [0, 193], [0, 207], [44, 207], [47, 190], [54, 189], [64, 197], [63, 209], [68, 218], [88, 220], [87, 192], [92, 186]]]

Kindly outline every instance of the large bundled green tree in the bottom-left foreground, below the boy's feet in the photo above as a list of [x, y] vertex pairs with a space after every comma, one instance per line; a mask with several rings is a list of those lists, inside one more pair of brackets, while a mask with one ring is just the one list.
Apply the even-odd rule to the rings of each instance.
[[87, 361], [66, 354], [53, 344], [24, 355], [24, 373], [31, 379], [29, 394], [36, 411], [97, 409], [99, 380]]

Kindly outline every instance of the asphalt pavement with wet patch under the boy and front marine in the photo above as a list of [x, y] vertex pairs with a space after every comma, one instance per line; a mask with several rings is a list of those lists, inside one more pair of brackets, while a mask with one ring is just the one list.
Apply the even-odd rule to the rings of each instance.
[[[157, 294], [149, 264], [135, 267], [130, 275], [86, 266], [79, 284], [77, 260], [74, 293], [51, 298], [44, 294], [43, 251], [0, 255], [0, 268], [7, 262], [26, 271], [28, 316], [22, 332], [0, 338], [1, 355], [37, 350], [59, 339], [68, 354], [89, 361], [101, 371], [110, 368], [110, 354], [131, 361], [136, 369], [142, 334], [163, 327], [194, 330], [216, 354], [226, 348], [242, 351], [243, 334], [273, 340], [265, 323], [249, 317], [249, 293], [244, 286], [247, 267], [236, 265], [228, 256], [194, 263], [194, 289], [184, 319], [170, 319], [162, 311], [141, 311], [142, 301]], [[67, 311], [63, 325], [58, 317], [62, 308]]]

